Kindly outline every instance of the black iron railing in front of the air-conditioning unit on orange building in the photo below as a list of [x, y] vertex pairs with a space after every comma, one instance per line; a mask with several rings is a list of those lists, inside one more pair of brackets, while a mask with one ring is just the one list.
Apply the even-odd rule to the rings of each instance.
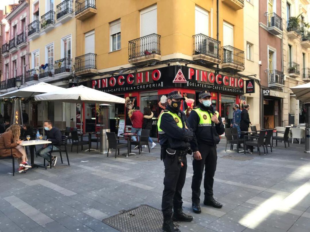
[[194, 38], [194, 51], [193, 55], [204, 54], [214, 58], [221, 58], [220, 48], [221, 42], [208, 37], [204, 34], [197, 34]]

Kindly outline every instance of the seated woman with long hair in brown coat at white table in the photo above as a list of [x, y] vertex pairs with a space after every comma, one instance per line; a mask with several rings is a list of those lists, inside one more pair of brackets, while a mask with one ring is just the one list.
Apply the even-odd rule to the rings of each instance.
[[[20, 138], [20, 125], [13, 124], [9, 128], [7, 128], [6, 132], [4, 132], [0, 136], [0, 148], [12, 148], [12, 154], [14, 158], [18, 158], [17, 161], [19, 163], [18, 172], [22, 173], [23, 171], [31, 168], [28, 165], [27, 156], [25, 149], [19, 144], [22, 143]], [[0, 156], [6, 157], [11, 155], [10, 149], [0, 150]]]

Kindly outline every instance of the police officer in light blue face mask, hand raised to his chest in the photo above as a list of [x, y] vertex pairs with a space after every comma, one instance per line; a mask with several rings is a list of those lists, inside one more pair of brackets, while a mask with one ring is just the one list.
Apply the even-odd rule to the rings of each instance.
[[188, 122], [193, 129], [193, 140], [190, 141], [193, 150], [193, 180], [192, 180], [192, 208], [194, 213], [201, 213], [200, 184], [204, 167], [205, 198], [203, 204], [215, 208], [222, 208], [222, 204], [213, 198], [213, 182], [216, 169], [216, 144], [219, 135], [225, 131], [222, 119], [211, 105], [211, 94], [204, 90], [199, 93], [199, 107], [193, 109]]

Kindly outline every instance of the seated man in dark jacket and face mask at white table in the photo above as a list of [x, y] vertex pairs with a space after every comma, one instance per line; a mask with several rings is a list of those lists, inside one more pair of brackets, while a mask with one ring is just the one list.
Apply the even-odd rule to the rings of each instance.
[[[53, 127], [53, 123], [50, 120], [44, 121], [44, 130], [46, 131], [47, 141], [51, 141], [53, 143], [53, 151], [59, 150], [57, 144], [61, 142], [61, 132], [58, 128]], [[50, 165], [55, 166], [57, 162], [57, 156], [52, 156], [52, 160], [50, 160], [50, 151], [52, 150], [52, 144], [44, 144], [43, 147], [36, 152], [36, 155], [43, 157], [46, 159]]]

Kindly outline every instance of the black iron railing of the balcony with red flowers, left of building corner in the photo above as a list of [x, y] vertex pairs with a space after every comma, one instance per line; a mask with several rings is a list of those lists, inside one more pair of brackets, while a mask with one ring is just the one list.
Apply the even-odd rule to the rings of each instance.
[[160, 35], [155, 33], [128, 42], [129, 59], [150, 55], [160, 55]]

